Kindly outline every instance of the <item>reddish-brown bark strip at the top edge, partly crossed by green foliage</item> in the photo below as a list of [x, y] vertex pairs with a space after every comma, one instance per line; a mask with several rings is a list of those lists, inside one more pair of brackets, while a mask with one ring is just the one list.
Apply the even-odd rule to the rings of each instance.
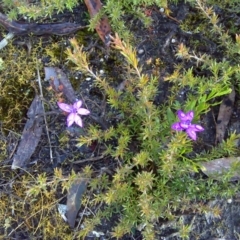
[[[84, 0], [88, 8], [88, 12], [91, 18], [94, 18], [96, 14], [102, 8], [102, 3], [100, 0]], [[111, 43], [110, 33], [111, 27], [106, 16], [102, 17], [99, 23], [96, 25], [96, 31], [98, 36], [102, 39], [106, 46], [109, 46]]]

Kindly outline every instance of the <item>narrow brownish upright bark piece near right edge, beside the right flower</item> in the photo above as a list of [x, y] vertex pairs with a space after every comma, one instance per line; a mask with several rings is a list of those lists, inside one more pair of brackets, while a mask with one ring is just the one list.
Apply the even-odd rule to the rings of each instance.
[[232, 92], [224, 98], [220, 105], [216, 126], [216, 142], [221, 143], [224, 139], [227, 125], [232, 116], [235, 95], [235, 89], [232, 88]]

